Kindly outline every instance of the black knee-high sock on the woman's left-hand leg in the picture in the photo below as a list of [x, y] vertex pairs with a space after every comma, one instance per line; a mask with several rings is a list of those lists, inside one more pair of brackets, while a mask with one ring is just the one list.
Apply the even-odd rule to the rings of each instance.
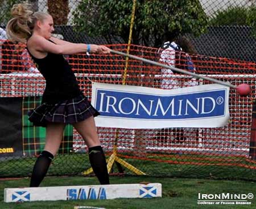
[[38, 187], [40, 185], [40, 183], [43, 181], [43, 178], [46, 176], [52, 159], [53, 155], [48, 151], [44, 150], [40, 154], [34, 165], [34, 169], [30, 180], [30, 187]]

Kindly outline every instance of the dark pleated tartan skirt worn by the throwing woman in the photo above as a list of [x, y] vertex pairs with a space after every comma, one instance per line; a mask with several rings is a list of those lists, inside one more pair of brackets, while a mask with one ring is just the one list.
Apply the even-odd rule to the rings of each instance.
[[42, 103], [28, 112], [28, 120], [34, 126], [46, 127], [47, 122], [76, 123], [100, 113], [93, 108], [84, 95], [57, 104]]

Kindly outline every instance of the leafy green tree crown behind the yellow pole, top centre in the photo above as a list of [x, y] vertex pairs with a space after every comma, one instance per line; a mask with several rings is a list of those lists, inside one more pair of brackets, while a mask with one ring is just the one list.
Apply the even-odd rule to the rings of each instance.
[[[76, 30], [89, 36], [104, 36], [109, 43], [115, 36], [128, 42], [131, 0], [81, 0], [73, 12]], [[133, 44], [159, 46], [177, 35], [200, 35], [208, 18], [199, 0], [137, 0]]]

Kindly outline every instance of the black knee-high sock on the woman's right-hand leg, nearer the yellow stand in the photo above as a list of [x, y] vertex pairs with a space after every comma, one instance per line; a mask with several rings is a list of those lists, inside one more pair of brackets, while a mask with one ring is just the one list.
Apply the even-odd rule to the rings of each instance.
[[106, 166], [106, 158], [101, 146], [89, 147], [89, 160], [93, 172], [100, 184], [109, 184], [109, 173]]

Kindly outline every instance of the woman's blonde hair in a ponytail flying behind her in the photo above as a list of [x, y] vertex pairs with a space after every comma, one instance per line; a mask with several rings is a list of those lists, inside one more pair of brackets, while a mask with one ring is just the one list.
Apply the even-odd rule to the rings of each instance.
[[37, 20], [43, 22], [49, 16], [45, 12], [33, 12], [30, 10], [31, 5], [27, 3], [19, 3], [11, 9], [12, 19], [6, 26], [7, 37], [11, 41], [26, 43], [32, 35]]

